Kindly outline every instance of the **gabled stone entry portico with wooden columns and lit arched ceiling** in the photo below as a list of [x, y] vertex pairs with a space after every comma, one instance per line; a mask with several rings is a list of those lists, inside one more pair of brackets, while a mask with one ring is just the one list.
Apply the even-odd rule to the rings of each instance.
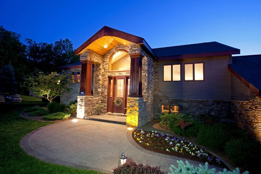
[[[126, 114], [129, 126], [153, 119], [157, 57], [143, 38], [104, 26], [75, 54], [82, 63], [77, 118], [97, 114], [103, 104], [106, 113]], [[116, 106], [119, 98], [122, 104]]]

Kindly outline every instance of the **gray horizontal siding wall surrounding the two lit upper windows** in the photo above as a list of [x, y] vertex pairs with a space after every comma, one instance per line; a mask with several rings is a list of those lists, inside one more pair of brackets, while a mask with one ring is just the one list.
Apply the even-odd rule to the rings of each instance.
[[[176, 99], [231, 100], [231, 73], [227, 68], [229, 56], [183, 59], [159, 63], [159, 88], [161, 93]], [[204, 81], [184, 81], [184, 64], [204, 63]], [[163, 66], [181, 64], [181, 81], [163, 81]]]

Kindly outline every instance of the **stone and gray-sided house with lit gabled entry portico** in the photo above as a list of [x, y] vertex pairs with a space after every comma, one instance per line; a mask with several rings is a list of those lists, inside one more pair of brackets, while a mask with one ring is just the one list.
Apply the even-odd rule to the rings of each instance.
[[[254, 130], [261, 141], [261, 109], [256, 110], [256, 105], [261, 108], [260, 81], [255, 78], [260, 75], [254, 68], [260, 66], [260, 55], [232, 57], [240, 50], [218, 42], [152, 49], [143, 38], [107, 26], [75, 54], [81, 62], [77, 118], [97, 114], [98, 104], [107, 114], [126, 115], [130, 126], [164, 112], [198, 115], [210, 110], [222, 121], [240, 117], [240, 126]], [[240, 68], [246, 59], [255, 64], [245, 66], [248, 74]]]

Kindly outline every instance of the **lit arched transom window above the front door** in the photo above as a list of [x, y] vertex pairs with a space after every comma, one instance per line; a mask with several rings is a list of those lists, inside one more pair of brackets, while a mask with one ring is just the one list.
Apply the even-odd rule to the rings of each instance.
[[131, 57], [128, 52], [119, 50], [110, 58], [109, 71], [129, 71], [131, 70]]

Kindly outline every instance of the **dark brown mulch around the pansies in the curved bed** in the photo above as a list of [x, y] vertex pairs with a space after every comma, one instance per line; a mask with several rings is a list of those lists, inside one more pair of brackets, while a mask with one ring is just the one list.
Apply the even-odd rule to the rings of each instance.
[[[173, 151], [172, 148], [175, 149], [175, 147], [176, 147], [175, 141], [172, 141], [172, 142], [174, 142], [174, 144], [172, 146], [169, 145], [169, 142], [167, 142], [165, 140], [167, 135], [164, 135], [164, 137], [162, 137], [161, 133], [155, 133], [154, 132], [153, 137], [151, 137], [153, 132], [144, 131], [144, 133], [142, 135], [143, 139], [141, 139], [141, 133], [140, 133], [141, 131], [142, 130], [134, 131], [132, 133], [132, 137], [133, 137], [134, 141], [139, 146], [143, 147], [144, 149], [147, 149], [148, 151], [152, 151], [152, 152], [156, 152], [156, 153], [162, 153], [162, 154], [166, 154], [166, 155], [172, 155], [172, 156], [181, 157], [181, 158], [186, 158], [186, 159], [189, 159], [189, 160], [194, 160], [194, 161], [198, 161], [198, 162], [202, 162], [202, 163], [208, 162], [210, 165], [221, 167], [221, 168], [226, 168], [226, 169], [229, 170], [229, 168], [222, 161], [220, 161], [220, 164], [218, 164], [218, 162], [216, 162], [216, 160], [215, 160], [217, 157], [215, 157], [211, 153], [207, 152], [206, 150], [204, 150], [204, 152], [207, 153], [208, 157], [211, 157], [213, 160], [209, 161], [208, 158], [203, 157], [202, 155], [201, 155], [202, 158], [197, 157], [196, 156], [197, 154], [191, 155], [189, 152], [186, 151], [185, 148], [183, 148], [182, 153], [180, 153], [180, 147], [183, 147], [185, 145], [186, 145], [186, 147], [192, 146], [191, 144], [189, 144], [189, 142], [186, 142], [185, 140], [182, 140], [178, 137], [169, 135], [168, 137], [170, 139], [176, 138], [175, 140], [177, 140], [177, 143], [179, 143], [181, 145], [181, 146], [178, 146], [178, 149], [179, 149], [178, 151]], [[146, 136], [148, 133], [150, 133], [149, 137]], [[136, 134], [136, 136], [135, 136], [135, 134]], [[160, 137], [157, 137], [157, 134]], [[138, 138], [138, 140], [137, 140], [137, 138]], [[142, 143], [140, 143], [139, 141], [142, 141]], [[181, 143], [181, 141], [183, 141], [183, 143]], [[146, 143], [148, 143], [149, 145], [147, 145]], [[194, 146], [195, 145], [193, 145], [193, 147]], [[157, 147], [157, 148], [155, 148], [155, 147]], [[200, 151], [200, 147], [197, 147], [197, 148], [198, 148], [197, 150]], [[167, 152], [166, 149], [168, 149], [169, 152]], [[195, 153], [195, 151], [194, 151], [194, 153]]]

